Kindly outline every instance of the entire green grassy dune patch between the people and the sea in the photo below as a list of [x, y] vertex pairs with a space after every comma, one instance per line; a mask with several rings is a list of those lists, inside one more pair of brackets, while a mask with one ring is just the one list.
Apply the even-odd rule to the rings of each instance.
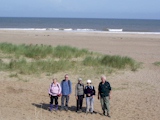
[[0, 54], [0, 70], [16, 72], [10, 77], [16, 77], [17, 73], [50, 75], [66, 71], [82, 75], [110, 74], [119, 69], [135, 71], [140, 66], [129, 57], [102, 55], [70, 46], [0, 43]]

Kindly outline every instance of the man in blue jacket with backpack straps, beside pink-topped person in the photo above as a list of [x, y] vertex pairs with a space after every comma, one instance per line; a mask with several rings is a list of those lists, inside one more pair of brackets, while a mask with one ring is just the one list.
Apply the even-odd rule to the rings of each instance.
[[[62, 97], [61, 97], [61, 108], [60, 110], [65, 109], [68, 111], [68, 102], [69, 102], [69, 97], [72, 92], [72, 83], [69, 80], [68, 74], [65, 75], [65, 79], [62, 80], [61, 82], [61, 88], [62, 88]], [[65, 102], [65, 106], [64, 106]]]

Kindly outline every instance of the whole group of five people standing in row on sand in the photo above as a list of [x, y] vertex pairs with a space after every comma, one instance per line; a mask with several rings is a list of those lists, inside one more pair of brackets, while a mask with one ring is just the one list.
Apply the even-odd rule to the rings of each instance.
[[[70, 95], [72, 93], [72, 82], [69, 80], [69, 75], [64, 76], [64, 80], [59, 84], [57, 79], [54, 78], [53, 82], [49, 87], [50, 96], [50, 108], [49, 110], [58, 110], [58, 97], [61, 97], [61, 107], [60, 110], [68, 111], [68, 102]], [[94, 112], [94, 96], [95, 88], [92, 85], [91, 80], [87, 80], [87, 85], [85, 86], [82, 82], [82, 78], [78, 78], [78, 83], [75, 86], [75, 99], [77, 103], [76, 112], [82, 112], [83, 99], [86, 98], [86, 113]], [[108, 81], [106, 81], [106, 76], [101, 76], [101, 82], [98, 86], [98, 99], [100, 99], [101, 107], [103, 110], [103, 115], [110, 117], [109, 100], [111, 98], [111, 86]], [[53, 101], [55, 104], [53, 105]]]

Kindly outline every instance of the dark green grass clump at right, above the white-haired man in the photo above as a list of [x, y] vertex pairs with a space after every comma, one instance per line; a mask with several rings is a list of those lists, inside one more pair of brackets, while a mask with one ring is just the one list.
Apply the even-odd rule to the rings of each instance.
[[129, 57], [122, 57], [118, 55], [104, 55], [101, 57], [86, 57], [83, 61], [87, 66], [106, 66], [108, 68], [125, 69], [130, 67], [132, 71], [139, 68], [139, 64]]

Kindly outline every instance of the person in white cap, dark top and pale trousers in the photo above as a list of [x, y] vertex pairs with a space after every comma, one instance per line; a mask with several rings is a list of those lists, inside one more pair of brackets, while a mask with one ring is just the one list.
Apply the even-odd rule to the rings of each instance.
[[86, 94], [86, 113], [94, 111], [94, 95], [95, 89], [94, 86], [91, 85], [91, 80], [87, 80], [87, 86], [84, 89], [84, 93]]

